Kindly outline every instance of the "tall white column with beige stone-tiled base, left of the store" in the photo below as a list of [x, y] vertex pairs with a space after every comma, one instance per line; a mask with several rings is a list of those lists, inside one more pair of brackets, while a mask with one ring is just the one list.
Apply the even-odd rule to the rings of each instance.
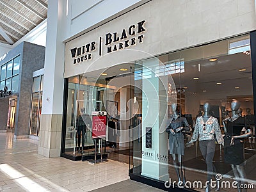
[[44, 90], [38, 154], [60, 157], [63, 113], [64, 58], [68, 15], [65, 0], [49, 1], [44, 66]]

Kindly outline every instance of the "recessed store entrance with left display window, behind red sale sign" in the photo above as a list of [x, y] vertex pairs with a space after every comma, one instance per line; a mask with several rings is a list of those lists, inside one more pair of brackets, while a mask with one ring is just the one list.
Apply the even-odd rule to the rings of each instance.
[[[90, 160], [95, 145], [97, 152], [102, 145], [102, 152], [108, 159], [128, 164], [132, 150], [132, 123], [134, 117], [140, 118], [140, 94], [136, 90], [134, 65], [131, 63], [70, 77], [63, 156], [75, 161]], [[92, 139], [92, 113], [95, 111], [106, 111], [107, 131], [102, 143], [95, 143]], [[84, 116], [86, 124], [82, 131], [76, 127], [79, 116]]]

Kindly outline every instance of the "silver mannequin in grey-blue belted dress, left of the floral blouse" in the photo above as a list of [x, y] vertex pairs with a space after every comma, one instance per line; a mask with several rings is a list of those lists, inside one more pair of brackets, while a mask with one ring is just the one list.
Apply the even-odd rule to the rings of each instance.
[[[190, 127], [186, 118], [180, 116], [180, 111], [177, 108], [177, 104], [172, 104], [172, 115], [173, 119], [170, 125], [168, 125], [166, 132], [170, 134], [169, 136], [169, 146], [170, 146], [170, 154], [172, 155], [173, 165], [175, 166], [175, 172], [177, 173], [177, 177], [179, 182], [186, 182], [185, 178], [185, 171], [182, 168], [182, 156], [184, 156], [184, 136], [182, 130], [189, 131]], [[177, 157], [180, 163], [180, 170], [179, 166], [177, 166]]]

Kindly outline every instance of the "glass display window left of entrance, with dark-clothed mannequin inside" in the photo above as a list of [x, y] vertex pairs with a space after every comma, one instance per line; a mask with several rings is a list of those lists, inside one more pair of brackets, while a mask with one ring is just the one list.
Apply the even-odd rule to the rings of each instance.
[[[78, 83], [79, 79], [81, 79], [79, 76], [68, 79], [65, 154], [91, 156], [94, 154], [95, 148], [92, 140], [92, 111], [104, 110], [102, 108], [102, 90], [105, 88], [88, 85], [95, 81], [93, 78], [82, 79], [80, 82], [83, 84]], [[81, 122], [81, 118], [83, 122]], [[80, 122], [87, 128], [79, 126]]]

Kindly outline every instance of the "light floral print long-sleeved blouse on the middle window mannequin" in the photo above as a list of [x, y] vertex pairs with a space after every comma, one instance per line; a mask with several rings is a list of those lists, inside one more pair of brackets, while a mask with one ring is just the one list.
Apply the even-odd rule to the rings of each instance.
[[207, 122], [204, 122], [203, 116], [198, 116], [198, 118], [196, 118], [196, 125], [193, 132], [193, 136], [189, 143], [195, 142], [198, 139], [198, 135], [199, 141], [215, 140], [214, 133], [216, 135], [217, 142], [219, 144], [222, 144], [223, 137], [221, 135], [220, 125], [218, 123], [217, 118], [210, 116]]

